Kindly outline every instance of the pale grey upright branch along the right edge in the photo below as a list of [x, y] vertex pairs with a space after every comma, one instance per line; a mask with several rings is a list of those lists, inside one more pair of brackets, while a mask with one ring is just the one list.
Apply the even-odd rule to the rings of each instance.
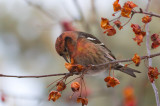
[[[151, 0], [148, 0], [148, 3], [147, 3], [147, 6], [146, 6], [146, 13], [148, 12], [148, 9], [149, 9], [149, 6], [150, 6], [150, 2]], [[144, 13], [143, 11], [141, 11], [142, 13]], [[153, 16], [153, 14], [151, 13], [151, 16]], [[156, 15], [157, 16], [157, 15]], [[159, 16], [160, 17], [160, 16]], [[146, 24], [146, 27], [145, 27], [145, 30], [146, 30], [146, 48], [147, 48], [147, 54], [148, 56], [151, 54], [151, 51], [150, 51], [150, 45], [149, 45], [149, 40], [150, 40], [150, 35], [149, 35], [149, 23]], [[149, 66], [152, 66], [152, 58], [149, 58], [148, 59], [148, 65]], [[152, 85], [152, 88], [154, 90], [154, 94], [155, 94], [155, 98], [156, 98], [156, 103], [157, 103], [157, 106], [160, 106], [159, 104], [159, 95], [158, 95], [158, 90], [157, 90], [157, 87], [155, 85], [155, 82], [151, 83]]]

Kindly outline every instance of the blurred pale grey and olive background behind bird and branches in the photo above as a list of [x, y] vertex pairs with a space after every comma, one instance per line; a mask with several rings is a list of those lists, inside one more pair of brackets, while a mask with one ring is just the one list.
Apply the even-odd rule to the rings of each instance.
[[[120, 0], [122, 5], [126, 0]], [[68, 72], [65, 61], [55, 51], [55, 40], [67, 30], [91, 33], [112, 50], [117, 59], [131, 58], [135, 53], [146, 55], [145, 39], [141, 46], [132, 40], [131, 23], [143, 27], [143, 15], [135, 15], [121, 31], [108, 37], [100, 28], [101, 17], [113, 19], [114, 0], [0, 0], [0, 73], [7, 75], [44, 75]], [[133, 0], [145, 9], [147, 0]], [[160, 14], [160, 1], [152, 0], [150, 11]], [[124, 23], [128, 19], [121, 18]], [[159, 33], [160, 20], [153, 17], [150, 34]], [[151, 50], [159, 52], [159, 48]], [[159, 67], [160, 57], [153, 58], [153, 66]], [[88, 106], [124, 106], [127, 95], [132, 95], [129, 106], [156, 106], [155, 96], [147, 78], [144, 61], [137, 78], [115, 71], [121, 82], [115, 88], [107, 88], [101, 73], [86, 76]], [[0, 78], [0, 106], [80, 106], [72, 95], [70, 84], [55, 103], [48, 101], [47, 86], [60, 77], [48, 78]], [[72, 79], [72, 78], [71, 78]], [[158, 90], [160, 80], [156, 80]], [[128, 105], [126, 105], [128, 106]]]

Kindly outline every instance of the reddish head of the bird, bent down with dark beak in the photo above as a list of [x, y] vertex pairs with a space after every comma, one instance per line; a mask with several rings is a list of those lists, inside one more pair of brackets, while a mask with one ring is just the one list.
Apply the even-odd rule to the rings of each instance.
[[62, 56], [67, 62], [77, 41], [77, 33], [74, 31], [66, 31], [62, 33], [56, 40], [55, 48], [57, 53]]

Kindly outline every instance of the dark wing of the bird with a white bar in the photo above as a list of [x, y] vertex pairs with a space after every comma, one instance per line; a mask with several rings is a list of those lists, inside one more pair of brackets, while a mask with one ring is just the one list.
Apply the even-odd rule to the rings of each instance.
[[[112, 52], [100, 41], [98, 40], [95, 36], [91, 35], [91, 34], [88, 34], [88, 33], [84, 33], [84, 32], [77, 32], [79, 33], [79, 37], [85, 37], [87, 40], [93, 42], [94, 44], [97, 44], [97, 45], [100, 45], [102, 47], [104, 47], [107, 51], [108, 51], [108, 54], [116, 60], [115, 56], [112, 54]], [[106, 56], [108, 57], [108, 56]]]

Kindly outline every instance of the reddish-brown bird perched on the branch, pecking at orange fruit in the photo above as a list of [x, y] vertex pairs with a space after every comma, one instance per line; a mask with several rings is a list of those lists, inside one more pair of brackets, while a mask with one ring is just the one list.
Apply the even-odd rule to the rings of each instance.
[[[86, 70], [89, 75], [94, 75], [106, 70], [118, 70], [132, 77], [140, 71], [124, 66], [122, 63], [112, 65], [100, 65], [115, 61], [116, 57], [112, 52], [95, 36], [80, 31], [65, 31], [55, 43], [57, 53], [62, 56], [66, 62], [74, 61], [74, 64], [80, 64], [84, 67], [97, 65]], [[100, 65], [100, 66], [98, 66]]]

